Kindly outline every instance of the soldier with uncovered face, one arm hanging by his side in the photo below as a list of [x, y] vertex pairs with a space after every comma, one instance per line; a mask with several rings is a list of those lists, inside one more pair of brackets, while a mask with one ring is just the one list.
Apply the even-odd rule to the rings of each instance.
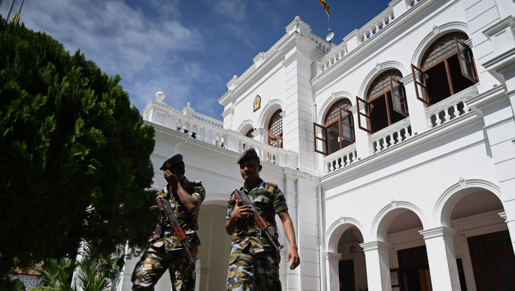
[[[260, 159], [254, 149], [245, 151], [238, 159], [239, 169], [245, 184], [240, 189], [254, 208], [266, 220], [274, 239], [279, 237], [276, 214], [279, 215], [288, 239], [290, 249], [286, 262], [291, 261], [290, 269], [300, 264], [297, 251], [295, 230], [288, 214], [288, 206], [283, 193], [276, 184], [266, 183], [259, 176], [262, 169]], [[235, 198], [234, 195], [231, 199]], [[254, 220], [249, 205], [229, 205], [225, 228], [228, 234], [234, 234], [229, 256], [227, 290], [281, 290], [279, 281], [280, 254], [267, 241]]]

